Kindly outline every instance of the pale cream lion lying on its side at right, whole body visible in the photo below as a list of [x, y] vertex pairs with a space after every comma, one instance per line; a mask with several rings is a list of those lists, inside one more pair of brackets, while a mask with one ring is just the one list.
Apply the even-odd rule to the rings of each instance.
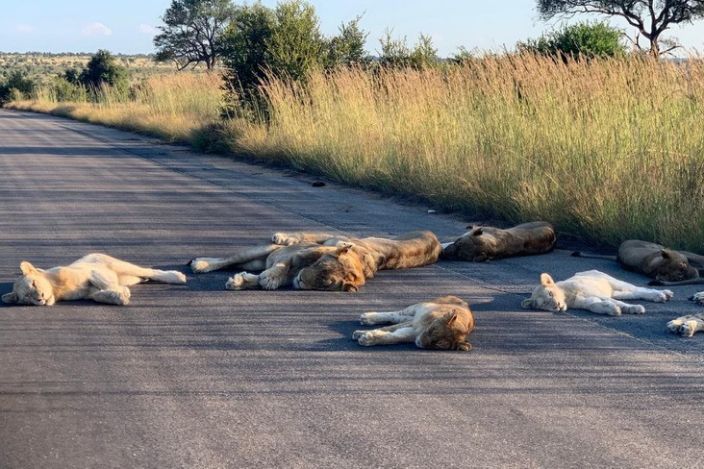
[[564, 312], [568, 308], [586, 309], [593, 313], [620, 316], [644, 314], [641, 305], [632, 305], [620, 300], [646, 300], [664, 303], [673, 297], [670, 290], [642, 288], [615, 279], [598, 270], [579, 272], [573, 277], [555, 283], [549, 274], [540, 275], [540, 286], [530, 298], [523, 300], [525, 309]]

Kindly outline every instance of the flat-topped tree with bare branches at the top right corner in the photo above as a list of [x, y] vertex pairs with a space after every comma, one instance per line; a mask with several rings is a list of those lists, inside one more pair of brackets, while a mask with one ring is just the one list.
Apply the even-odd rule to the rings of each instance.
[[[538, 0], [544, 18], [576, 13], [596, 13], [625, 19], [649, 42], [649, 52], [658, 57], [677, 46], [661, 48], [662, 34], [671, 26], [704, 16], [704, 0]], [[640, 47], [638, 40], [634, 43]]]

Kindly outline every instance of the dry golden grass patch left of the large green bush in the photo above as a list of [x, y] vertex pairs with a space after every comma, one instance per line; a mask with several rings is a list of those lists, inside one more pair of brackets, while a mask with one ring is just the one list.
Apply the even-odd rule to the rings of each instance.
[[47, 87], [37, 99], [16, 101], [8, 107], [149, 133], [172, 142], [191, 142], [202, 128], [219, 121], [220, 85], [216, 73], [161, 75], [142, 80], [130, 92], [100, 90], [97, 102], [85, 91], [76, 102], [60, 102]]

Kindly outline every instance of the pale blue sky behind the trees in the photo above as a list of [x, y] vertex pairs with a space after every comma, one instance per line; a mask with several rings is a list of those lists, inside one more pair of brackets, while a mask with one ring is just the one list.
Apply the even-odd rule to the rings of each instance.
[[[152, 52], [152, 37], [170, 0], [2, 0], [0, 51]], [[264, 0], [273, 6], [276, 0]], [[441, 55], [459, 46], [501, 49], [535, 37], [559, 23], [542, 22], [535, 0], [313, 0], [323, 32], [334, 34], [342, 21], [363, 14], [370, 32], [368, 49], [379, 48], [387, 28], [414, 42], [433, 37]], [[625, 27], [619, 21], [617, 26]], [[672, 34], [688, 48], [704, 51], [704, 21]]]

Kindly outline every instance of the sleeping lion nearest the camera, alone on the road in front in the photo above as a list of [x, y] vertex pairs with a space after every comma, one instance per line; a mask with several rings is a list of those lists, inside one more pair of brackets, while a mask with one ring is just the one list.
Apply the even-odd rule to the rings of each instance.
[[429, 350], [472, 349], [467, 336], [474, 330], [474, 316], [469, 305], [456, 296], [443, 296], [400, 311], [364, 313], [360, 322], [394, 324], [354, 331], [352, 340], [364, 346], [415, 343], [416, 347]]

